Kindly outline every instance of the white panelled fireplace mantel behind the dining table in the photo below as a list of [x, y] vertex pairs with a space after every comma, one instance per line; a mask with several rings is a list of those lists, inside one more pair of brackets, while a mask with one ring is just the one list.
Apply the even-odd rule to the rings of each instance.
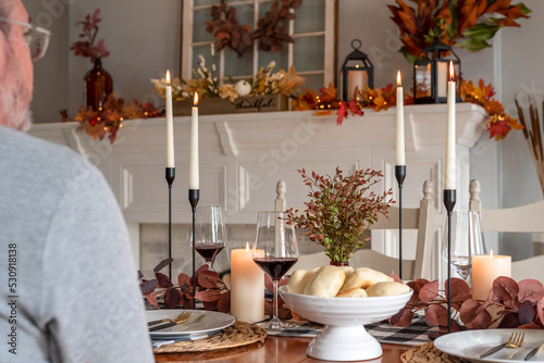
[[[458, 103], [457, 188], [468, 190], [469, 150], [479, 140], [485, 111]], [[442, 214], [446, 104], [405, 107], [407, 178], [404, 205], [417, 206], [425, 179], [434, 182], [435, 209]], [[384, 183], [375, 191], [396, 192], [395, 108], [349, 116], [336, 125], [336, 114], [269, 112], [199, 117], [200, 202], [219, 203], [231, 224], [256, 222], [256, 213], [274, 205], [275, 185], [285, 180], [287, 204], [301, 206], [307, 187], [298, 168], [334, 173], [354, 168], [381, 170]], [[118, 140], [95, 141], [77, 123], [33, 125], [30, 134], [85, 155], [104, 174], [128, 224], [168, 223], [164, 118], [124, 122]], [[190, 117], [175, 117], [176, 177], [173, 184], [173, 223], [190, 223], [187, 199]], [[458, 205], [468, 192], [457, 193]], [[395, 195], [393, 196], [395, 198]], [[374, 248], [374, 246], [373, 246]]]

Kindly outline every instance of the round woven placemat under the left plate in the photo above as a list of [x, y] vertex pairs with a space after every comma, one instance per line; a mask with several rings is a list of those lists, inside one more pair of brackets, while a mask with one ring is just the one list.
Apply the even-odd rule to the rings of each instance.
[[161, 346], [153, 350], [154, 353], [184, 353], [202, 352], [225, 348], [248, 346], [267, 339], [267, 330], [245, 322], [236, 322], [227, 328], [203, 339], [177, 341]]

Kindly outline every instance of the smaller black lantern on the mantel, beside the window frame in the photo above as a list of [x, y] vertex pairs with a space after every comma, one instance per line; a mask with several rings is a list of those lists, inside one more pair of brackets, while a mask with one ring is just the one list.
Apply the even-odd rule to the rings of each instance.
[[351, 40], [354, 51], [346, 57], [342, 64], [342, 99], [350, 101], [356, 88], [363, 90], [366, 86], [374, 88], [374, 66], [369, 57], [361, 52], [362, 42], [359, 39]]

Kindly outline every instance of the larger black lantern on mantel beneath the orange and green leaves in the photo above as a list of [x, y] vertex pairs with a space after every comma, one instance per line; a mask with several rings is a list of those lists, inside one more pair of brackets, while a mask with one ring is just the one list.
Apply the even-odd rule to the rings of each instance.
[[423, 48], [413, 63], [413, 102], [446, 103], [447, 83], [449, 80], [449, 62], [454, 63], [454, 80], [456, 82], [456, 100], [461, 101], [461, 62], [452, 47], [441, 41]]

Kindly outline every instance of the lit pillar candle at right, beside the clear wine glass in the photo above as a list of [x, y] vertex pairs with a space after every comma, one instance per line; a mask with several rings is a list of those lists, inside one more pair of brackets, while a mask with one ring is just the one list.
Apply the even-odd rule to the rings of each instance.
[[493, 287], [493, 281], [499, 277], [511, 277], [511, 256], [480, 254], [472, 256], [472, 298], [485, 300]]

